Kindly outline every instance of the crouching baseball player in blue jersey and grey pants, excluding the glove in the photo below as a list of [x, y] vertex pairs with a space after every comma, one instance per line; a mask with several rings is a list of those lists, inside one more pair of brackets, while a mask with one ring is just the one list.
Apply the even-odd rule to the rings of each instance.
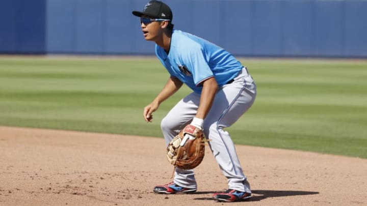
[[[160, 1], [148, 2], [140, 17], [143, 36], [155, 42], [155, 53], [170, 77], [156, 98], [144, 107], [146, 122], [160, 104], [183, 83], [193, 92], [181, 99], [164, 117], [161, 129], [168, 143], [188, 124], [200, 128], [220, 169], [228, 179], [228, 190], [216, 193], [218, 201], [241, 201], [251, 197], [234, 144], [224, 129], [235, 123], [253, 104], [256, 85], [246, 67], [228, 51], [202, 38], [173, 29], [172, 11]], [[175, 168], [174, 181], [154, 188], [155, 193], [192, 193], [197, 185], [193, 170]]]

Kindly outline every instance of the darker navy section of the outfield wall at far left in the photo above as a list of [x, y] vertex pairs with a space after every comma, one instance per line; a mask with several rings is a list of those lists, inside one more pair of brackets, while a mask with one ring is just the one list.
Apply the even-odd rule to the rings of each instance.
[[46, 0], [0, 1], [0, 53], [46, 51]]

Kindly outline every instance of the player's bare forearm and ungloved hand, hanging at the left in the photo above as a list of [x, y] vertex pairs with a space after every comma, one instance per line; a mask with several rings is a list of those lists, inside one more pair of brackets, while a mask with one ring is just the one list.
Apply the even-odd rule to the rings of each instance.
[[159, 105], [163, 101], [165, 101], [170, 96], [172, 96], [174, 93], [176, 93], [180, 89], [182, 84], [183, 83], [175, 77], [170, 77], [168, 79], [162, 91], [155, 97], [155, 99], [150, 104], [144, 107], [143, 117], [144, 117], [145, 122], [152, 121], [153, 119], [152, 113], [158, 109]]

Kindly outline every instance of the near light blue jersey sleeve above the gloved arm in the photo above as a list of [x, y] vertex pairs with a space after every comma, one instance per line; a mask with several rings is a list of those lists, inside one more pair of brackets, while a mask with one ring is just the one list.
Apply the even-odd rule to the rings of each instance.
[[182, 63], [191, 72], [196, 86], [214, 76], [208, 65], [208, 57], [205, 55], [205, 50], [200, 45], [187, 47], [181, 58]]

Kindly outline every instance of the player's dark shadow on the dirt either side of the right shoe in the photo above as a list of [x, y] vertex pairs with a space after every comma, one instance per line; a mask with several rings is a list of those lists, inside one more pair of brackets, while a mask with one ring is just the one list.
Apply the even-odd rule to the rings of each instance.
[[[208, 194], [215, 192], [200, 192], [200, 194]], [[196, 192], [195, 194], [198, 194]], [[286, 197], [286, 196], [297, 196], [297, 195], [314, 195], [319, 194], [319, 192], [311, 191], [287, 191], [287, 190], [252, 190], [252, 198], [250, 201], [260, 201], [269, 197]], [[213, 198], [199, 197], [194, 198], [196, 200], [212, 200]]]

